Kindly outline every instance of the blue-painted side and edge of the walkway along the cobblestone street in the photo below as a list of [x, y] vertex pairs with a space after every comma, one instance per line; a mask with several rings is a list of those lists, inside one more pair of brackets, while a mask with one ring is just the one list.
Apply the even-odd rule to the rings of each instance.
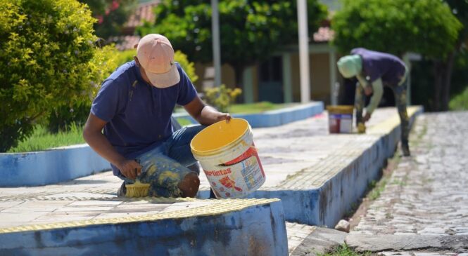
[[[422, 107], [412, 110], [410, 126], [415, 117], [423, 112]], [[342, 162], [344, 165], [331, 166], [329, 163], [317, 164], [314, 168], [333, 170], [336, 173], [318, 187], [310, 184], [310, 189], [291, 189], [291, 187], [272, 187], [253, 192], [249, 198], [279, 198], [284, 205], [286, 221], [301, 224], [334, 227], [350, 210], [353, 203], [365, 193], [370, 181], [375, 180], [379, 170], [388, 157], [395, 152], [400, 141], [400, 124], [369, 130], [367, 137], [375, 140], [371, 147], [362, 154], [350, 154], [347, 151], [336, 151], [333, 158], [324, 162]], [[289, 183], [306, 180], [298, 177]], [[204, 194], [203, 194], [204, 195]]]

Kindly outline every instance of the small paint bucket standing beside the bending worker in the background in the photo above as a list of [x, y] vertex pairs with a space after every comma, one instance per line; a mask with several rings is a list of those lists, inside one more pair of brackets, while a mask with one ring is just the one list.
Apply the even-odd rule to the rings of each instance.
[[330, 133], [353, 132], [353, 106], [327, 106], [328, 128]]

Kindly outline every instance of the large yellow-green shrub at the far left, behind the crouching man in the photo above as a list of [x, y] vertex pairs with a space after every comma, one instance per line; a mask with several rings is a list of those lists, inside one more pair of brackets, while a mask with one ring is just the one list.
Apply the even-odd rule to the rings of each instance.
[[0, 151], [54, 109], [89, 100], [94, 18], [74, 0], [0, 0]]

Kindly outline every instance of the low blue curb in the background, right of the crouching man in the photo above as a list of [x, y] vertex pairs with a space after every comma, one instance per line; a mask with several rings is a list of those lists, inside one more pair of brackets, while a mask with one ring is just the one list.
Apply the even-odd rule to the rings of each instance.
[[[267, 111], [259, 114], [232, 114], [234, 117], [246, 119], [252, 128], [282, 126], [286, 123], [306, 119], [324, 111], [323, 102], [311, 102], [296, 107]], [[172, 116], [184, 118], [191, 123], [197, 123], [189, 114], [175, 113]]]

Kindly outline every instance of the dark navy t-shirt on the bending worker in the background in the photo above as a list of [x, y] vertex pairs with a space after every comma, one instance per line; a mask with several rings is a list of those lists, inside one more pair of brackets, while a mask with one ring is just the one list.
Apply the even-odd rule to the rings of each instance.
[[382, 79], [382, 83], [396, 86], [405, 76], [405, 62], [395, 55], [380, 53], [365, 48], [354, 48], [351, 54], [358, 54], [362, 58], [362, 75], [369, 77], [370, 82]]

